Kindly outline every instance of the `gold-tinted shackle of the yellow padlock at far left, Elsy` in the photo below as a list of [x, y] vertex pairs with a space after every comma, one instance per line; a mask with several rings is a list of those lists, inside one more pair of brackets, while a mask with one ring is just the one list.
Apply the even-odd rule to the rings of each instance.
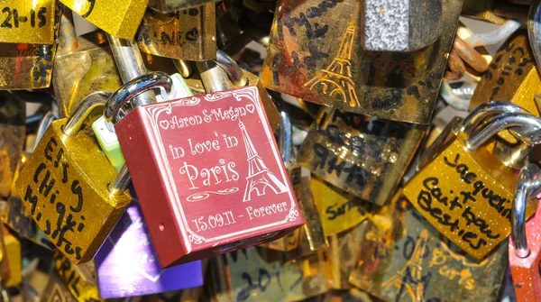
[[73, 136], [78, 133], [81, 129], [81, 126], [87, 120], [88, 115], [96, 107], [105, 106], [107, 98], [111, 96], [112, 93], [106, 91], [97, 91], [93, 92], [87, 97], [85, 97], [81, 103], [75, 108], [73, 113], [69, 115], [68, 121], [64, 125], [62, 132], [68, 136]]

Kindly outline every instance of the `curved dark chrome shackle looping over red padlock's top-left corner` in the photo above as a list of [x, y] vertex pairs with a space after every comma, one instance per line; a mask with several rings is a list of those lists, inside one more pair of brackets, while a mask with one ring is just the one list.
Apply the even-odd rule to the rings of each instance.
[[126, 103], [132, 100], [133, 97], [158, 87], [164, 88], [169, 94], [173, 87], [173, 79], [161, 71], [150, 72], [141, 77], [133, 78], [133, 80], [127, 82], [109, 96], [104, 108], [105, 121], [113, 124], [120, 122], [127, 114], [122, 109]]

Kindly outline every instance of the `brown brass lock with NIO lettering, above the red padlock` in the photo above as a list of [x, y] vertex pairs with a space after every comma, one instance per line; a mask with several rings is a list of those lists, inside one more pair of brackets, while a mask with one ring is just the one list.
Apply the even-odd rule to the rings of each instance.
[[135, 39], [142, 52], [173, 59], [204, 60], [216, 56], [215, 4], [171, 14], [147, 9]]

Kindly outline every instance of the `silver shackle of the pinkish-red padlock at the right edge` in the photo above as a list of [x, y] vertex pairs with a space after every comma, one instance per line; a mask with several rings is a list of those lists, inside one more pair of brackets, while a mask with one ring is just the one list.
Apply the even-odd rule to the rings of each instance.
[[535, 164], [529, 163], [520, 169], [518, 187], [515, 197], [513, 197], [513, 210], [511, 212], [511, 238], [518, 258], [526, 258], [530, 253], [526, 236], [526, 205], [528, 199], [536, 197], [540, 192], [539, 168]]

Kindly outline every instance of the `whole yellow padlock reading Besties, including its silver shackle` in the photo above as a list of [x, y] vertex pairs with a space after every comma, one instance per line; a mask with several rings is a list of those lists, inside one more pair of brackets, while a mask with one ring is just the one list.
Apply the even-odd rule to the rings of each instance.
[[[539, 140], [533, 129], [541, 125], [536, 116], [520, 112], [495, 114], [481, 124], [479, 117], [486, 115], [482, 110], [468, 115], [460, 131], [438, 146], [440, 152], [404, 188], [404, 195], [428, 222], [477, 259], [509, 235], [517, 186], [515, 169], [481, 146], [508, 128], [531, 146]], [[527, 216], [535, 209], [536, 200], [528, 202]]]

